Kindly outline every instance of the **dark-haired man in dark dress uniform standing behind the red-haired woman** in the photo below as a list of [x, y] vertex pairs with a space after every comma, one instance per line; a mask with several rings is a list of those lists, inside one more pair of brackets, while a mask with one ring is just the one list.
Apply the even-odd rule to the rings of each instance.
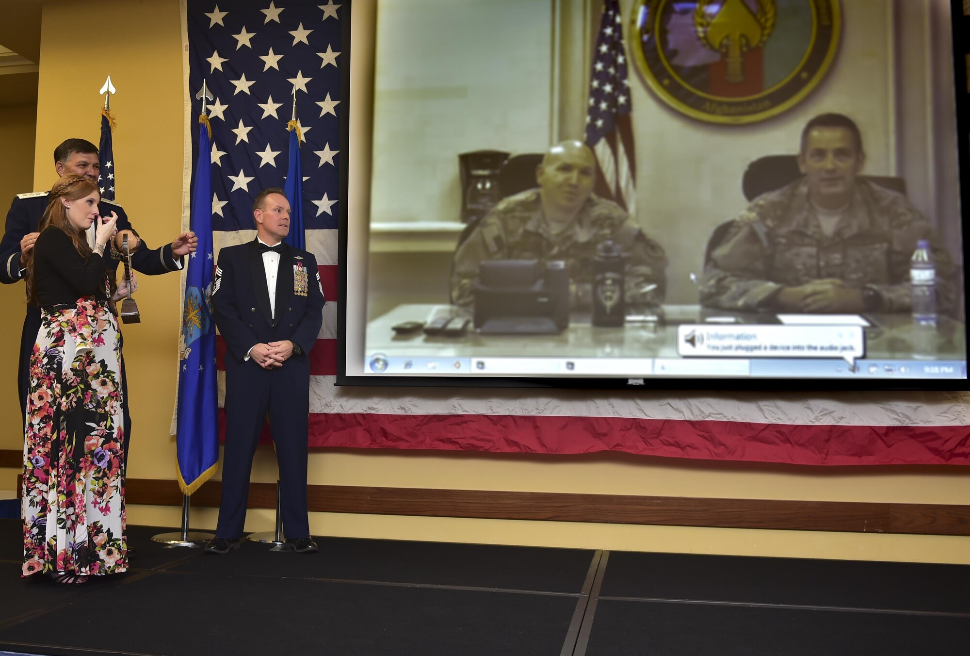
[[[83, 139], [68, 139], [54, 148], [54, 169], [58, 178], [66, 174], [75, 174], [98, 181], [100, 165], [98, 164], [98, 148]], [[3, 240], [0, 241], [0, 282], [11, 284], [26, 276], [27, 256], [37, 240], [38, 226], [41, 217], [48, 208], [49, 191], [18, 194], [7, 213], [7, 227]], [[128, 215], [121, 206], [113, 201], [102, 199], [98, 204], [98, 212], [103, 216], [116, 213], [118, 216], [117, 229], [131, 230], [134, 244], [129, 240], [129, 247], [138, 247], [141, 238], [134, 231], [128, 221]], [[172, 244], [160, 248], [150, 249], [141, 242], [141, 248], [132, 255], [132, 266], [148, 276], [178, 271], [182, 268], [181, 258], [195, 250], [198, 240], [195, 233], [187, 232], [175, 239]], [[120, 253], [112, 246], [113, 258], [108, 266], [116, 272]], [[112, 274], [114, 275], [114, 273]], [[27, 315], [23, 321], [23, 332], [20, 335], [20, 360], [17, 369], [17, 392], [20, 397], [21, 419], [26, 410], [27, 387], [30, 373], [30, 353], [37, 340], [37, 330], [41, 327], [40, 308], [27, 306]], [[121, 369], [122, 394], [128, 398], [127, 379], [124, 367]], [[124, 404], [124, 447], [127, 450], [131, 437], [131, 418], [128, 416], [128, 404]]]

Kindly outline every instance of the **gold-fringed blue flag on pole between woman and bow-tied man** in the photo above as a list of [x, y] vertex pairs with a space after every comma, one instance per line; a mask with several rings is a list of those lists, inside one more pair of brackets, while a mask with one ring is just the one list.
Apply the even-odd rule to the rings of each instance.
[[[200, 152], [209, 152], [209, 117], [199, 122]], [[215, 474], [219, 460], [218, 387], [215, 374], [215, 320], [210, 297], [213, 278], [212, 174], [209, 157], [196, 163], [189, 227], [199, 238], [188, 260], [179, 335], [178, 485], [192, 494]]]

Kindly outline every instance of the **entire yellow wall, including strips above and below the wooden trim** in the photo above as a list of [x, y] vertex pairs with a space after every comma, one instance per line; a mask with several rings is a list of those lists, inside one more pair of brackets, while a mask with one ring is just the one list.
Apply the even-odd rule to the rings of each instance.
[[[44, 13], [35, 185], [44, 188], [52, 181], [49, 152], [59, 141], [69, 136], [97, 141], [97, 89], [109, 70], [72, 65], [78, 56], [72, 36], [113, 33], [118, 198], [151, 245], [172, 239], [179, 226], [183, 120], [178, 19], [177, 0], [52, 3]], [[70, 110], [65, 110], [66, 97], [75, 100]], [[135, 419], [129, 474], [171, 479], [175, 446], [168, 428], [176, 389], [178, 277], [143, 279], [139, 294], [143, 323], [124, 329]], [[9, 352], [16, 352], [19, 322], [4, 322], [0, 331]], [[13, 379], [13, 371], [0, 373], [7, 406], [16, 397]], [[6, 416], [14, 416], [12, 410]], [[0, 431], [0, 448], [19, 448], [20, 443], [16, 421], [9, 421]], [[339, 450], [311, 454], [309, 470], [309, 482], [316, 484], [970, 504], [970, 468], [825, 469], [624, 454]], [[11, 489], [14, 476], [13, 470], [0, 470], [0, 489]], [[272, 449], [261, 449], [253, 479], [273, 481], [275, 476]], [[129, 507], [129, 521], [176, 526], [179, 509]], [[310, 521], [314, 533], [337, 536], [970, 563], [970, 538], [323, 513]], [[271, 512], [250, 511], [246, 528], [269, 530], [272, 522]], [[213, 527], [214, 509], [194, 510], [192, 523], [193, 528]]]

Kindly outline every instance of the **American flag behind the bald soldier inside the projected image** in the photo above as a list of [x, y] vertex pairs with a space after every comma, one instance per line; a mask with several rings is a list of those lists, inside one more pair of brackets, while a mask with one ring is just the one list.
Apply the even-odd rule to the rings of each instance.
[[586, 143], [597, 155], [597, 193], [636, 213], [636, 151], [630, 118], [627, 51], [623, 16], [617, 0], [603, 3], [597, 45], [593, 49]]

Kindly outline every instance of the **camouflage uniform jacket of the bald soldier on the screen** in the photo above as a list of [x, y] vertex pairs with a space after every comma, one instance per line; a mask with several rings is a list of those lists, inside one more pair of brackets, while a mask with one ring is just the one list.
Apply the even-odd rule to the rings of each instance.
[[[501, 202], [486, 215], [455, 251], [451, 299], [472, 302], [471, 285], [484, 260], [564, 260], [569, 270], [570, 306], [589, 309], [593, 289], [593, 261], [597, 246], [612, 239], [623, 248], [626, 264], [626, 301], [634, 312], [663, 302], [666, 256], [663, 247], [647, 237], [620, 206], [591, 195], [573, 223], [553, 234], [543, 217], [538, 189]], [[657, 285], [646, 289], [650, 285]]]

